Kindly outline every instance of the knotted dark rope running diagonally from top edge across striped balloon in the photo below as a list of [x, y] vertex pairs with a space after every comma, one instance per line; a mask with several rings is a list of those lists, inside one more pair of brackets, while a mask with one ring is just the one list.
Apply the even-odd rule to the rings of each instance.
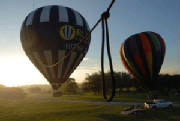
[[77, 43], [75, 44], [72, 49], [66, 54], [66, 56], [64, 56], [63, 58], [61, 58], [60, 60], [58, 60], [56, 63], [54, 64], [51, 64], [51, 65], [46, 65], [44, 63], [42, 63], [42, 66], [46, 67], [46, 68], [53, 68], [55, 66], [57, 66], [58, 64], [62, 63], [66, 58], [68, 58], [71, 53], [76, 50], [80, 44], [90, 36], [90, 34], [95, 30], [95, 28], [97, 27], [97, 25], [102, 21], [102, 20], [107, 20], [109, 17], [110, 17], [110, 9], [112, 8], [112, 5], [114, 4], [115, 0], [112, 0], [112, 2], [110, 3], [109, 7], [107, 8], [107, 10], [105, 12], [103, 12], [101, 14], [101, 17], [98, 19], [98, 21], [96, 22], [96, 24], [90, 29], [90, 31], [85, 35], [85, 36], [82, 36], [82, 39]]

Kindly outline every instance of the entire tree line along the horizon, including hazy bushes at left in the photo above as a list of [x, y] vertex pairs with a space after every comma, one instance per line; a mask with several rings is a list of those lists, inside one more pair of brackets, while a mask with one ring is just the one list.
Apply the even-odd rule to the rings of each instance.
[[[135, 88], [136, 92], [148, 92], [149, 89], [142, 85], [141, 81], [132, 78], [128, 73], [115, 72], [116, 91], [124, 92], [123, 89]], [[161, 74], [156, 80], [159, 86], [159, 92], [163, 95], [169, 95], [170, 92], [180, 93], [180, 75]], [[112, 89], [112, 79], [110, 72], [105, 73], [106, 89]], [[126, 91], [127, 91], [126, 90]], [[102, 93], [102, 79], [101, 72], [96, 72], [88, 75], [84, 82], [79, 85], [74, 78], [69, 78], [62, 84], [59, 89], [62, 94], [79, 94], [82, 92], [94, 92], [96, 94]], [[0, 97], [25, 97], [27, 93], [51, 93], [50, 86], [29, 86], [26, 88], [20, 87], [5, 87], [0, 85]]]

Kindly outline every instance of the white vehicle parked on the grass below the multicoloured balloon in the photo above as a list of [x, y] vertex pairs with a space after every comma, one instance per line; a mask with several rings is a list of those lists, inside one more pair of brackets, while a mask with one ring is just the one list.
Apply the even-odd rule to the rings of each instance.
[[155, 99], [152, 102], [145, 102], [144, 107], [146, 109], [156, 109], [156, 108], [173, 108], [173, 102], [166, 99]]

